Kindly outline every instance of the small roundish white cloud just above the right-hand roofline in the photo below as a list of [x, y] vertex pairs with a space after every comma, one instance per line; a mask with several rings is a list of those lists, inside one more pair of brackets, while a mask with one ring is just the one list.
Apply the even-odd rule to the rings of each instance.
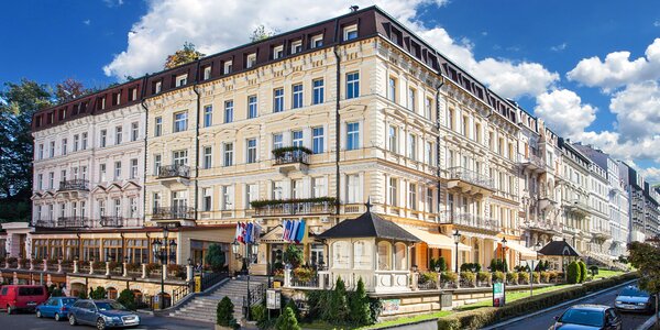
[[537, 97], [534, 109], [561, 136], [580, 139], [596, 119], [596, 108], [583, 105], [574, 91], [558, 89]]

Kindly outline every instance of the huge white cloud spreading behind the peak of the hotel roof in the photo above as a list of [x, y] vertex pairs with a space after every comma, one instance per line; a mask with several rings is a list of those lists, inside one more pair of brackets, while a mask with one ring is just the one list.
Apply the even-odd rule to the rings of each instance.
[[[468, 38], [457, 41], [444, 29], [427, 28], [417, 20], [421, 7], [442, 7], [448, 2], [396, 0], [377, 1], [376, 4], [476, 78], [490, 84], [503, 97], [534, 97], [559, 80], [557, 73], [550, 73], [537, 63], [495, 58], [477, 61], [472, 53], [473, 44]], [[367, 0], [351, 3], [361, 8], [373, 4]], [[212, 54], [245, 44], [250, 33], [260, 24], [285, 32], [348, 11], [346, 2], [341, 0], [151, 0], [147, 13], [133, 24], [128, 35], [128, 48], [117, 54], [103, 72], [120, 79], [141, 76], [162, 69], [167, 54], [174, 53], [186, 41], [197, 45], [202, 53]]]

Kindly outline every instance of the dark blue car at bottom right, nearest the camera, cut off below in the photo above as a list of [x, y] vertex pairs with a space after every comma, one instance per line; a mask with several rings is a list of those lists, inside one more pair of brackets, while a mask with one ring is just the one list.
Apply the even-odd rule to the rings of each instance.
[[622, 330], [622, 317], [614, 307], [605, 305], [575, 305], [554, 320], [554, 330]]

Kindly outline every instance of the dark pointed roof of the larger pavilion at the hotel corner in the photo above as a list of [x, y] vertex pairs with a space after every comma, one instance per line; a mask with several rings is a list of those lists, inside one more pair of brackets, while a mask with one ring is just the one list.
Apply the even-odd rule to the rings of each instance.
[[356, 219], [346, 219], [328, 229], [317, 238], [319, 239], [356, 239], [376, 238], [405, 242], [419, 242], [420, 240], [400, 228], [398, 224], [381, 218], [369, 210]]

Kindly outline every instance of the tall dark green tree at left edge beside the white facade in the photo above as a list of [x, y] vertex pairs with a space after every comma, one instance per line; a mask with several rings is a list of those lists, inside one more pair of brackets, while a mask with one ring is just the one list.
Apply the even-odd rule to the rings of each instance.
[[30, 219], [32, 116], [51, 105], [48, 87], [32, 80], [6, 82], [0, 91], [0, 198], [6, 199], [0, 202], [2, 219]]

